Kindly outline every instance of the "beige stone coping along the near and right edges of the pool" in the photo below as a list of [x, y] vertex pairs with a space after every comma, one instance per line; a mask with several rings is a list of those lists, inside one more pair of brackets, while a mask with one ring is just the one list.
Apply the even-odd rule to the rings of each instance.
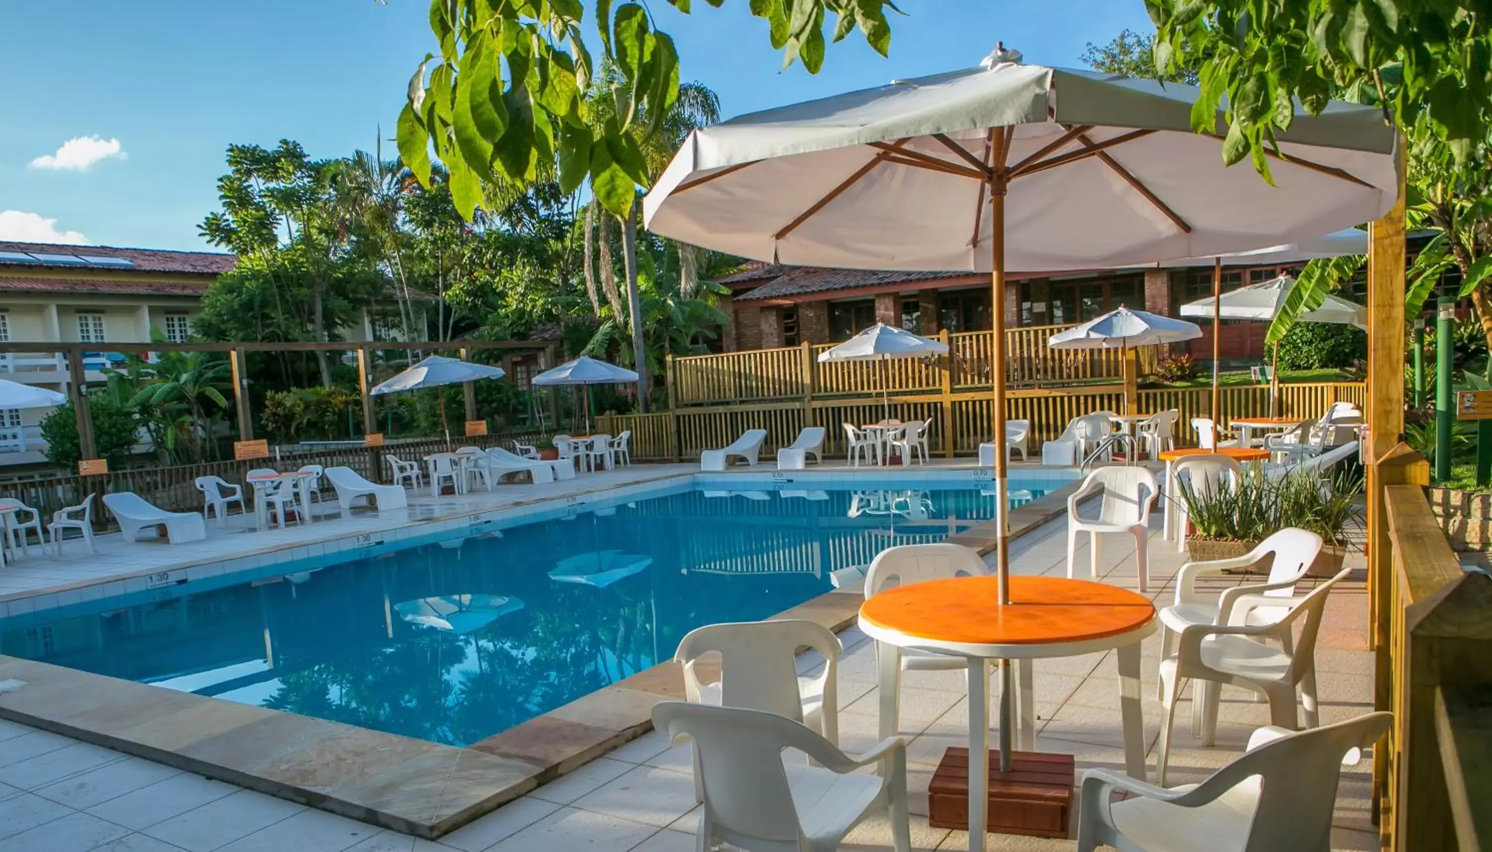
[[[1012, 509], [1010, 539], [1065, 513], [1076, 488]], [[988, 555], [995, 522], [947, 540]], [[858, 591], [831, 591], [773, 618], [840, 631], [855, 624], [861, 600]], [[0, 719], [425, 839], [640, 737], [652, 730], [653, 704], [682, 698], [679, 667], [659, 663], [458, 748], [0, 655]]]

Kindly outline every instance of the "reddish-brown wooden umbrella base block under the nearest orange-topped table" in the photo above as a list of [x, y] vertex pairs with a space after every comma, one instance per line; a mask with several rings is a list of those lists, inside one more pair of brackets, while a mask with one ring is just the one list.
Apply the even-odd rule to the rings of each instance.
[[[1000, 771], [1000, 752], [989, 752], [989, 810], [985, 825], [1000, 834], [1067, 837], [1076, 783], [1073, 755], [1013, 752], [1010, 771]], [[947, 749], [928, 783], [928, 824], [968, 828], [968, 749]]]

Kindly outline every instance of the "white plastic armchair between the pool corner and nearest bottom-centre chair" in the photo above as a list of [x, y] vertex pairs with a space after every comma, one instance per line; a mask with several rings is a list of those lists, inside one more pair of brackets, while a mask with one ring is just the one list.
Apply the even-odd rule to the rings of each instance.
[[[798, 677], [798, 649], [824, 657], [815, 677]], [[764, 710], [803, 722], [839, 742], [839, 655], [834, 631], [812, 621], [782, 619], [710, 624], [691, 630], [673, 658], [683, 670], [689, 701], [721, 707]], [[719, 680], [700, 677], [700, 658], [719, 654]]]

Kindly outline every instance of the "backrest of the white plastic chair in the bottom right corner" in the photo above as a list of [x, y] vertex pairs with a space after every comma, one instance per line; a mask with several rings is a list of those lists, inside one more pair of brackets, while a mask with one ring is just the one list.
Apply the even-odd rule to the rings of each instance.
[[1182, 794], [1177, 804], [1200, 806], [1256, 777], [1259, 803], [1243, 852], [1326, 849], [1341, 779], [1341, 759], [1352, 749], [1376, 743], [1394, 722], [1392, 713], [1368, 713], [1295, 731], [1256, 746]]

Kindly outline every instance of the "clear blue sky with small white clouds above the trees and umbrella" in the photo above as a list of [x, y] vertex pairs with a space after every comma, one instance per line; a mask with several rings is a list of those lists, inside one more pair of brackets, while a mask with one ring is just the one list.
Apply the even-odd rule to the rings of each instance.
[[[1088, 42], [1150, 28], [1140, 0], [900, 0], [891, 58], [852, 36], [810, 76], [780, 72], [746, 0], [649, 6], [685, 79], [719, 93], [725, 115], [968, 67], [997, 39], [1074, 66]], [[216, 207], [227, 145], [288, 137], [340, 157], [370, 149], [379, 125], [392, 134], [433, 46], [427, 15], [422, 0], [0, 0], [0, 239], [206, 248], [197, 224]]]

